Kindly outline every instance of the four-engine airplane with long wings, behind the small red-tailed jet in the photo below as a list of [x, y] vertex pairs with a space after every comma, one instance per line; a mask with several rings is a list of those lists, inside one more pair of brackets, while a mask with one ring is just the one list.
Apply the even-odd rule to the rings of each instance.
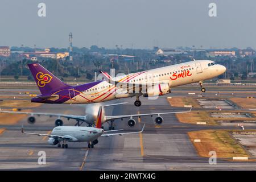
[[[101, 110], [102, 112], [102, 119], [101, 122], [110, 122], [109, 130], [114, 130], [113, 122], [115, 119], [123, 119], [123, 118], [129, 118], [127, 121], [127, 125], [129, 127], [134, 127], [136, 125], [134, 117], [143, 117], [143, 116], [153, 116], [156, 115], [156, 118], [154, 119], [155, 125], [161, 125], [164, 121], [163, 117], [161, 115], [164, 114], [177, 114], [177, 113], [189, 113], [191, 112], [190, 110], [187, 111], [175, 111], [175, 112], [167, 112], [167, 113], [145, 113], [145, 114], [127, 114], [127, 115], [105, 115], [105, 109], [104, 107], [108, 106], [115, 106], [115, 105], [121, 105], [121, 104], [126, 104], [127, 102], [123, 103], [117, 103], [117, 104], [109, 104], [109, 105], [104, 105], [104, 106], [94, 106], [90, 108], [89, 111], [86, 111], [86, 115], [68, 115], [68, 114], [56, 114], [56, 113], [30, 113], [30, 112], [23, 112], [23, 111], [9, 111], [9, 110], [2, 110], [0, 109], [0, 113], [13, 113], [13, 114], [30, 114], [31, 116], [28, 117], [28, 122], [29, 123], [35, 123], [35, 117], [34, 115], [48, 115], [50, 117], [55, 116], [58, 117], [55, 121], [55, 126], [62, 126], [63, 121], [60, 119], [61, 117], [63, 118], [68, 118], [68, 119], [75, 119], [77, 121], [75, 126], [80, 126], [83, 122], [86, 122], [89, 126], [92, 126], [95, 121], [97, 121], [97, 115], [94, 115], [96, 110]], [[81, 123], [80, 123], [81, 122]]]

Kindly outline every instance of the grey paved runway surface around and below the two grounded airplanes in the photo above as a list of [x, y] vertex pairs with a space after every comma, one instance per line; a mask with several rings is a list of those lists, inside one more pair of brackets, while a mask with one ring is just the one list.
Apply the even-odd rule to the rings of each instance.
[[[182, 95], [182, 94], [180, 94]], [[184, 95], [184, 94], [183, 94]], [[187, 96], [187, 94], [186, 94]], [[158, 113], [188, 110], [171, 107], [167, 96], [158, 100], [141, 98], [142, 106], [133, 105], [134, 98], [122, 99], [128, 102], [106, 108], [106, 115], [137, 113]], [[47, 105], [35, 107], [33, 111], [84, 114], [84, 107], [79, 105]], [[46, 137], [25, 135], [20, 132], [21, 125], [27, 131], [49, 133], [54, 127], [55, 118], [36, 117], [34, 125], [24, 118], [16, 125], [2, 125], [0, 134], [0, 169], [15, 170], [255, 170], [256, 162], [233, 162], [217, 158], [216, 165], [210, 165], [208, 158], [197, 155], [187, 132], [203, 129], [240, 129], [237, 126], [201, 126], [189, 125], [177, 121], [174, 114], [163, 115], [164, 122], [155, 126], [151, 117], [135, 118], [137, 125], [130, 129], [127, 119], [114, 122], [115, 129], [137, 131], [146, 123], [142, 134], [129, 134], [115, 137], [101, 137], [94, 148], [87, 148], [87, 143], [69, 143], [69, 148], [57, 148], [47, 143]], [[154, 118], [154, 117], [153, 117]], [[75, 125], [75, 121], [63, 119], [64, 125]], [[104, 124], [108, 128], [108, 123]], [[248, 126], [247, 129], [256, 129]], [[38, 152], [46, 152], [46, 164], [38, 164]]]

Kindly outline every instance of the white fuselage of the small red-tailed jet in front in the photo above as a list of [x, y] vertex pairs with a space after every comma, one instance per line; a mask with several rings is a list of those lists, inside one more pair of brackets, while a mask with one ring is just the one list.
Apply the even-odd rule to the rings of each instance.
[[72, 140], [68, 140], [68, 142], [91, 142], [100, 137], [103, 133], [103, 129], [94, 127], [57, 126], [52, 130], [51, 134], [71, 137]]

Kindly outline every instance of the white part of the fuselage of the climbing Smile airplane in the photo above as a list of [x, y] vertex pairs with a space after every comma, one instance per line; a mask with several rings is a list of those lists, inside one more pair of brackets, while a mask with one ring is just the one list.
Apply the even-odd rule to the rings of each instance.
[[[213, 64], [213, 65], [211, 65]], [[180, 85], [191, 84], [208, 80], [221, 75], [226, 71], [223, 65], [214, 63], [211, 60], [196, 60], [187, 63], [170, 65], [167, 67], [151, 69], [148, 71], [131, 73], [114, 77], [115, 82], [125, 82], [127, 84], [154, 84], [168, 83], [170, 88]], [[102, 81], [88, 90], [77, 95], [74, 99], [68, 100], [65, 104], [89, 104], [94, 102], [104, 102], [116, 98], [132, 97], [132, 94], [120, 94], [122, 88], [111, 82]]]

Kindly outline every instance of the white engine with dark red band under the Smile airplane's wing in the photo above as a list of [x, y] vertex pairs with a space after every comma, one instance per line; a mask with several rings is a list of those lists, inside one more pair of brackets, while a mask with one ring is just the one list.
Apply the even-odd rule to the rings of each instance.
[[169, 84], [163, 83], [154, 86], [149, 86], [147, 92], [143, 93], [144, 97], [163, 96], [164, 94], [170, 93]]

